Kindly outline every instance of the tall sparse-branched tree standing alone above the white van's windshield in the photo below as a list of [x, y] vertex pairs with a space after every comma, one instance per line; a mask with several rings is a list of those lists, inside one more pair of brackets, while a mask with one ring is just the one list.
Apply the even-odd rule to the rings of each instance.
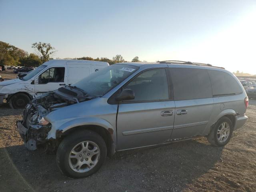
[[50, 43], [42, 42], [33, 43], [32, 48], [34, 48], [38, 52], [38, 56], [40, 57], [42, 63], [50, 60], [50, 56], [57, 51]]

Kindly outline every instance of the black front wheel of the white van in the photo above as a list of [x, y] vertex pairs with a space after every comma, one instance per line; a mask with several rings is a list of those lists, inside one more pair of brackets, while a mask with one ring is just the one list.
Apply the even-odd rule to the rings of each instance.
[[12, 109], [24, 109], [31, 101], [30, 97], [24, 93], [17, 93], [9, 100], [9, 105]]

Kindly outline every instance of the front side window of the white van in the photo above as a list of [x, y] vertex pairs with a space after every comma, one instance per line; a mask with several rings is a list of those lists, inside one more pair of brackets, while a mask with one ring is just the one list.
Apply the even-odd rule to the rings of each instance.
[[46, 84], [48, 82], [64, 82], [64, 76], [64, 67], [50, 68], [39, 76], [38, 84]]

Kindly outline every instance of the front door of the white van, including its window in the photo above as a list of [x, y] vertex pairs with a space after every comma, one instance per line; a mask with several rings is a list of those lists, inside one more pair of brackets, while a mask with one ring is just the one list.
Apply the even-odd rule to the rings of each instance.
[[65, 67], [48, 68], [38, 76], [38, 81], [34, 84], [34, 92], [42, 94], [54, 91], [66, 85]]

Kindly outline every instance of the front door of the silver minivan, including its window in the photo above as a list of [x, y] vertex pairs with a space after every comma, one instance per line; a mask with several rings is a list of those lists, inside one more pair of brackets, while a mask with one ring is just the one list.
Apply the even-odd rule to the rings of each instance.
[[146, 70], [123, 87], [135, 99], [119, 104], [117, 149], [137, 148], [167, 142], [174, 124], [174, 101], [168, 91], [165, 68]]

